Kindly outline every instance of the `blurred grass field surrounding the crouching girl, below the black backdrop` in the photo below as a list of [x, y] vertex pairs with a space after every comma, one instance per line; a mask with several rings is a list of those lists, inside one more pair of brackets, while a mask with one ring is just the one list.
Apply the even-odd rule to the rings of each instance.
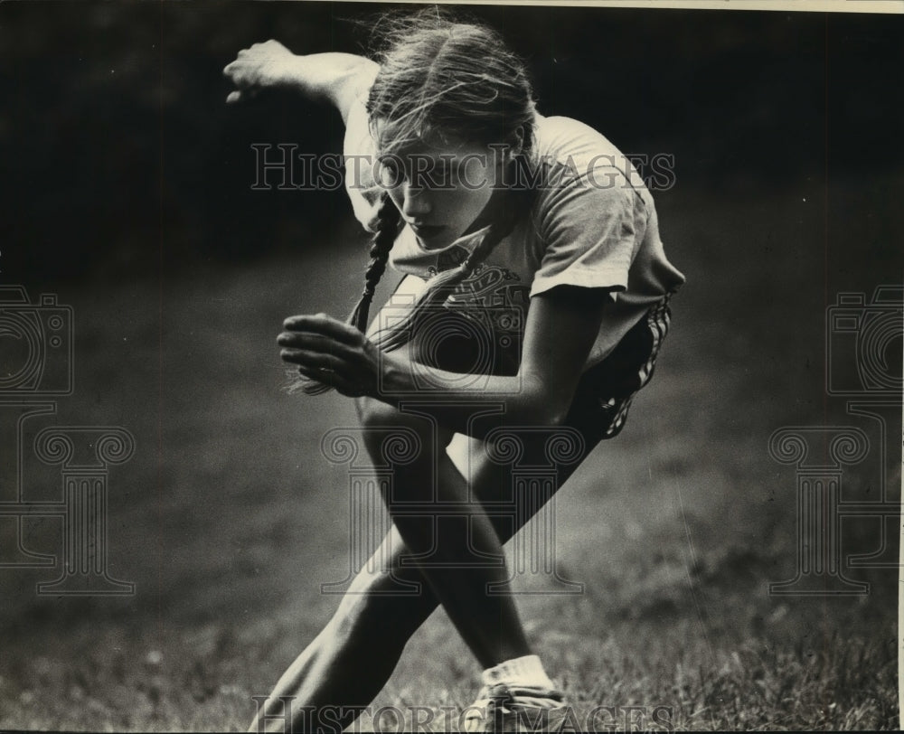
[[[560, 574], [585, 593], [519, 602], [581, 722], [607, 705], [601, 729], [630, 728], [629, 715], [643, 728], [899, 728], [897, 569], [851, 572], [871, 582], [863, 597], [767, 594], [796, 558], [794, 468], [768, 456], [768, 438], [852, 422], [825, 397], [824, 308], [835, 290], [884, 282], [892, 257], [867, 244], [841, 272], [819, 193], [803, 191], [808, 207], [801, 194], [661, 199], [689, 278], [673, 334], [622, 436], [557, 500]], [[882, 226], [901, 231], [891, 216]], [[860, 226], [835, 221], [833, 240]], [[287, 396], [274, 340], [289, 313], [346, 310], [359, 244], [59, 293], [75, 310], [76, 390], [55, 420], [137, 440], [109, 474], [110, 572], [137, 594], [39, 597], [54, 569], [0, 569], [0, 729], [242, 729], [251, 696], [325, 623], [338, 599], [320, 585], [344, 579], [350, 538], [347, 475], [317, 446], [353, 409]], [[29, 461], [26, 479], [46, 475]], [[868, 464], [845, 475], [852, 492], [874, 485]], [[26, 488], [52, 495], [52, 481]], [[59, 552], [58, 524], [27, 524], [30, 548]], [[846, 552], [874, 547], [875, 527], [848, 529]], [[434, 615], [372, 711], [427, 706], [426, 729], [454, 729], [440, 707], [470, 703], [476, 673]], [[397, 729], [389, 714], [377, 723]]]

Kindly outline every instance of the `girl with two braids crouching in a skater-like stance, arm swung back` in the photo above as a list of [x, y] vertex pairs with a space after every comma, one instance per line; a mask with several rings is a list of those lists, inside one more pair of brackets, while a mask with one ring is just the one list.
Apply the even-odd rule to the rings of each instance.
[[[543, 456], [559, 429], [582, 458], [615, 436], [652, 375], [683, 276], [636, 170], [590, 127], [542, 117], [497, 33], [434, 9], [390, 25], [378, 62], [269, 41], [225, 69], [228, 101], [285, 86], [339, 109], [346, 189], [374, 232], [350, 323], [287, 318], [282, 359], [305, 391], [356, 400], [374, 461], [385, 462], [387, 428], [418, 439], [391, 464], [377, 570], [359, 573], [252, 729], [311, 727], [325, 707], [347, 726], [438, 605], [485, 669], [464, 728], [538, 730], [538, 717], [554, 727], [563, 694], [513, 596], [499, 593], [502, 544], [537, 508], [513, 496], [498, 455], [515, 438], [523, 456]], [[406, 278], [365, 335], [387, 261]], [[576, 466], [559, 467], [557, 486]], [[386, 593], [400, 583], [420, 591]]]

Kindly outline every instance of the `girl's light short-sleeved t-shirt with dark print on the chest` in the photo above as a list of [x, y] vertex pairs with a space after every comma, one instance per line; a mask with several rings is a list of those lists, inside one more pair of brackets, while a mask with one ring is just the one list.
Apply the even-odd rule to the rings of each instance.
[[[540, 175], [530, 211], [457, 287], [447, 306], [498, 311], [499, 330], [523, 333], [523, 319], [510, 315], [526, 314], [533, 296], [561, 285], [606, 288], [613, 303], [603, 311], [587, 369], [603, 360], [650, 306], [681, 287], [684, 277], [665, 257], [653, 197], [606, 137], [577, 120], [540, 115], [534, 136], [532, 170]], [[363, 105], [349, 114], [344, 154], [355, 217], [373, 230], [382, 190], [370, 171], [374, 150]], [[447, 247], [425, 249], [406, 226], [390, 264], [417, 278], [406, 278], [402, 292], [416, 293], [427, 278], [457, 267], [485, 234], [486, 228]]]

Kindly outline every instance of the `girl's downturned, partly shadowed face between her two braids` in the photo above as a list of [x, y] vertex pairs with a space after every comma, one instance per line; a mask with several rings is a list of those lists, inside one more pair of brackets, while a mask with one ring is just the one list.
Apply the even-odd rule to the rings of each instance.
[[438, 249], [489, 223], [480, 215], [502, 170], [499, 150], [420, 142], [398, 154], [378, 156], [374, 174], [420, 244]]

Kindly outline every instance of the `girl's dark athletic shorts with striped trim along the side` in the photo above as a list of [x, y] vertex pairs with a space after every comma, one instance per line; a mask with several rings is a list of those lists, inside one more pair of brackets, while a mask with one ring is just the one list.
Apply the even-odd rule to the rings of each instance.
[[581, 375], [565, 425], [577, 428], [588, 447], [619, 434], [631, 401], [653, 377], [672, 318], [669, 297], [650, 308], [606, 359]]

